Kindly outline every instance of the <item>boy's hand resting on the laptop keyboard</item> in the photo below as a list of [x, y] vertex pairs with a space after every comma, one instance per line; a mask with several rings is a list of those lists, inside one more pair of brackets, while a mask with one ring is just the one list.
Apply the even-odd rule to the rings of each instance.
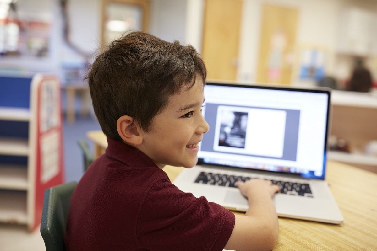
[[241, 193], [247, 198], [259, 197], [262, 194], [268, 193], [272, 197], [279, 192], [280, 187], [273, 185], [269, 180], [251, 179], [246, 182], [238, 181], [236, 186], [241, 190]]

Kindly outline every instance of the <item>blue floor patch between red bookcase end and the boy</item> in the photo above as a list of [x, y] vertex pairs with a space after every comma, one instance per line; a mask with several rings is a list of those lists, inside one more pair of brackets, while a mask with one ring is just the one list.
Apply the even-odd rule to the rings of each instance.
[[100, 124], [93, 117], [83, 118], [76, 116], [75, 123], [69, 124], [64, 116], [63, 155], [65, 182], [79, 181], [84, 173], [83, 155], [77, 145], [77, 140], [87, 141], [89, 148], [93, 151], [93, 143], [86, 137], [86, 132], [100, 129]]

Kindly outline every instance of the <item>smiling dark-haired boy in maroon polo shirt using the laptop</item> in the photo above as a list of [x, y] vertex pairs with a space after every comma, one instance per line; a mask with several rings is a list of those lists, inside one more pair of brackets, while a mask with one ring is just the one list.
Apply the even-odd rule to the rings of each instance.
[[195, 166], [209, 126], [201, 114], [206, 69], [192, 46], [144, 32], [114, 41], [88, 79], [106, 153], [72, 194], [67, 250], [271, 250], [279, 189], [264, 180], [238, 187], [250, 209], [224, 207], [175, 187], [165, 165]]

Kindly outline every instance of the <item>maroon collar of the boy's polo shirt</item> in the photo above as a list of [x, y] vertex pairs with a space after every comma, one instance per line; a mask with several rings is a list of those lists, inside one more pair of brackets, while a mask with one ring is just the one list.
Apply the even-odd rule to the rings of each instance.
[[139, 149], [113, 138], [107, 138], [106, 155], [123, 162], [127, 166], [150, 166], [158, 168], [158, 166]]

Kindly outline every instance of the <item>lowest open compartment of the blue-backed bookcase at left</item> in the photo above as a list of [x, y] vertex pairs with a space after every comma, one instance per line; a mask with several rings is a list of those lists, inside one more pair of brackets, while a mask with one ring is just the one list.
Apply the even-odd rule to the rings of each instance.
[[27, 224], [26, 192], [0, 191], [0, 222]]

